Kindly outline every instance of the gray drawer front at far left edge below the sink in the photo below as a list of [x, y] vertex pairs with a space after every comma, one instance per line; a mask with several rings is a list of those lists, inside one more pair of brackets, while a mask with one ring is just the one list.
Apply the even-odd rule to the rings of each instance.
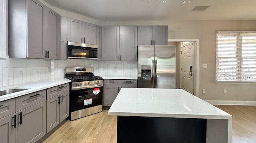
[[0, 102], [0, 119], [15, 113], [15, 98]]

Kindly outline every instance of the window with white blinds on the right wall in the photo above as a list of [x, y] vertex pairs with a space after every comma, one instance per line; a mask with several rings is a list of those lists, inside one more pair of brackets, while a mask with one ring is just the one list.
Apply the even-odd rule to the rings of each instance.
[[216, 82], [256, 82], [256, 31], [216, 32]]

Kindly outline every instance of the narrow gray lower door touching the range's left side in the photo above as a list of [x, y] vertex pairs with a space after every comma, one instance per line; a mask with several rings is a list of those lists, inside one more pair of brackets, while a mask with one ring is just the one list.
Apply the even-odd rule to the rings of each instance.
[[60, 94], [60, 122], [69, 116], [69, 92]]

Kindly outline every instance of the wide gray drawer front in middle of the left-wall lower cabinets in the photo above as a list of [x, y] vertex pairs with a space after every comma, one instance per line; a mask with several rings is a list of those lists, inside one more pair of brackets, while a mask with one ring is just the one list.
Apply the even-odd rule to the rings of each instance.
[[46, 100], [46, 90], [41, 90], [16, 98], [16, 112]]

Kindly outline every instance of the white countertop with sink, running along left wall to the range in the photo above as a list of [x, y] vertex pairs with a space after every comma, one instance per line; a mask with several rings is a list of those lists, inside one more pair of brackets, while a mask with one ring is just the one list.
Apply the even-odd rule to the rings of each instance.
[[3, 88], [0, 88], [0, 91], [6, 90], [6, 89], [13, 89], [13, 88], [23, 88], [23, 89], [30, 88], [30, 89], [23, 90], [20, 92], [11, 93], [11, 94], [2, 95], [2, 96], [0, 96], [0, 102], [4, 101], [4, 100], [11, 99], [11, 98], [23, 96], [25, 94], [30, 94], [32, 92], [37, 92], [40, 90], [44, 90], [47, 88], [65, 84], [68, 82], [70, 82], [70, 80], [67, 78], [49, 78], [49, 79], [45, 79], [45, 80], [38, 80], [35, 82], [16, 84], [16, 85], [12, 85], [12, 86], [4, 86]]

